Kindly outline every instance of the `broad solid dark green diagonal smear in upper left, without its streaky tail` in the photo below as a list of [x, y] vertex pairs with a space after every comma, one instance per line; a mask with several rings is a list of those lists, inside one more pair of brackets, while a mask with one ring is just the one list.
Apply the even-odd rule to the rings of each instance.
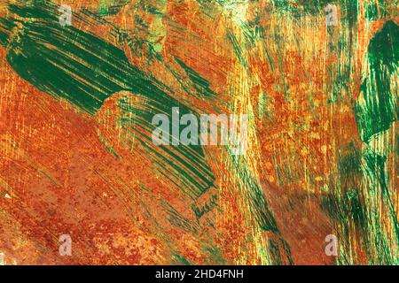
[[29, 19], [12, 34], [7, 61], [43, 92], [94, 114], [113, 93], [148, 89], [144, 74], [129, 64], [122, 50], [75, 27], [62, 27], [57, 10], [10, 5], [10, 11]]

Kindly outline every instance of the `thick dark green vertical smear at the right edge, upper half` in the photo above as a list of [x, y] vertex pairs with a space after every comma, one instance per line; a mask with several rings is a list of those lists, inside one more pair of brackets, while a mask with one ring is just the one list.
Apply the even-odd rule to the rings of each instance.
[[368, 47], [370, 74], [361, 87], [364, 102], [356, 102], [356, 122], [361, 139], [368, 142], [372, 135], [386, 131], [399, 114], [398, 80], [399, 27], [389, 20], [375, 34]]

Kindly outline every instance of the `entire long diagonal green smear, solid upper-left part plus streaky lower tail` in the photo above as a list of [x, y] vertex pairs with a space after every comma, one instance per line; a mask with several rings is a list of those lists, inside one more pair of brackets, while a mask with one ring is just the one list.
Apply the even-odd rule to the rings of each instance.
[[[163, 168], [162, 173], [168, 175], [171, 170], [179, 176], [180, 188], [192, 199], [213, 186], [215, 177], [200, 146], [168, 149], [153, 144], [148, 135], [155, 128], [153, 115], [165, 113], [171, 120], [172, 107], [179, 107], [181, 115], [193, 111], [160, 89], [158, 81], [131, 65], [122, 50], [75, 27], [59, 25], [58, 6], [42, 2], [10, 5], [9, 11], [27, 18], [0, 19], [0, 42], [9, 49], [7, 61], [21, 78], [92, 115], [106, 98], [122, 90], [144, 96], [151, 103], [145, 111], [120, 105], [140, 117], [124, 121], [139, 129], [132, 134], [143, 136], [143, 143]], [[20, 28], [12, 29], [17, 24]]]

